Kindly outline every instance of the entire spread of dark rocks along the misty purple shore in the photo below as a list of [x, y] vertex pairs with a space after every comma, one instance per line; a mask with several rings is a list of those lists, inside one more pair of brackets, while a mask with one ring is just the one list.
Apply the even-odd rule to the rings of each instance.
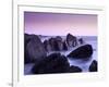
[[[93, 47], [83, 38], [68, 34], [41, 41], [41, 36], [24, 34], [24, 64], [34, 63], [32, 74], [78, 73], [82, 69], [70, 65], [69, 59], [89, 60]], [[66, 55], [61, 51], [71, 50]], [[97, 72], [97, 61], [89, 65], [89, 72]]]

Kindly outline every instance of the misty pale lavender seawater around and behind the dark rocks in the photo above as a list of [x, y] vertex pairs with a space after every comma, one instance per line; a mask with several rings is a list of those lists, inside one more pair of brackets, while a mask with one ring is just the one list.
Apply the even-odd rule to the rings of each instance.
[[[50, 37], [41, 37], [41, 41], [44, 41], [45, 39], [48, 39]], [[63, 39], [65, 39], [64, 36], [62, 36]], [[80, 66], [83, 70], [83, 73], [88, 72], [88, 67], [92, 63], [93, 60], [97, 60], [97, 37], [96, 36], [77, 36], [77, 38], [83, 38], [85, 40], [85, 44], [89, 44], [93, 46], [93, 55], [88, 59], [88, 60], [78, 60], [78, 59], [70, 59], [68, 58], [68, 61], [70, 63], [70, 65], [75, 65], [75, 66]], [[68, 55], [73, 49], [71, 48], [69, 51], [61, 51], [61, 54]], [[34, 63], [29, 63], [29, 64], [25, 64], [24, 65], [24, 74], [25, 75], [29, 75], [32, 74], [31, 70], [34, 66]]]

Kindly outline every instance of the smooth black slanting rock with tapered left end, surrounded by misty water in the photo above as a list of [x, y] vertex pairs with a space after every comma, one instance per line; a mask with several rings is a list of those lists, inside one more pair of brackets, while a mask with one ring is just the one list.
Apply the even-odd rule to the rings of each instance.
[[68, 54], [68, 57], [75, 59], [86, 59], [92, 57], [92, 54], [93, 54], [92, 45], [84, 45], [73, 50], [70, 54]]

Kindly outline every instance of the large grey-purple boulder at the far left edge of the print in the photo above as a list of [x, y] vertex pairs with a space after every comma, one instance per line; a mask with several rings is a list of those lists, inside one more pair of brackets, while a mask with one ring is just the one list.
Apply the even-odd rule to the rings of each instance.
[[26, 37], [29, 37], [29, 41], [25, 41], [25, 63], [35, 62], [45, 58], [47, 52], [39, 37], [37, 35], [28, 35]]

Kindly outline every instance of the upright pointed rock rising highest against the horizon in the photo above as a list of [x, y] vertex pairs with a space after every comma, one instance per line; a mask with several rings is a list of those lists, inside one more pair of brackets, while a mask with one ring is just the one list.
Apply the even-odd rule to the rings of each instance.
[[77, 39], [75, 36], [68, 34], [66, 35], [66, 44], [69, 47], [75, 47], [77, 46]]

